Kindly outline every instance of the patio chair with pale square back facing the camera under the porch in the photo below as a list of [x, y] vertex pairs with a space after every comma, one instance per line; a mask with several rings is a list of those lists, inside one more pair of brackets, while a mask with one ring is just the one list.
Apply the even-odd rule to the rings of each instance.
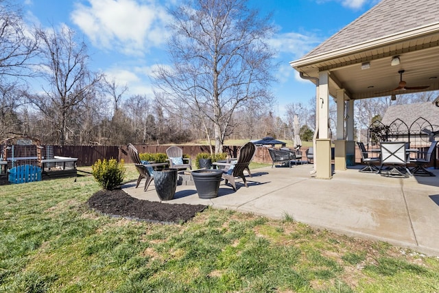
[[[385, 172], [386, 176], [390, 175], [401, 175], [401, 176], [411, 176], [410, 170], [407, 168], [407, 161], [410, 159], [407, 156], [407, 144], [401, 141], [381, 141], [381, 165], [377, 174], [380, 174], [383, 166], [387, 165], [390, 167], [388, 171]], [[401, 168], [405, 169], [405, 174], [401, 172]]]

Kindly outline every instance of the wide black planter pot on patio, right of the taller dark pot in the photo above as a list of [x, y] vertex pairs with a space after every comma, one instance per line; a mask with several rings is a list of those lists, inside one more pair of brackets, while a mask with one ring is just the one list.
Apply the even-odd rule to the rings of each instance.
[[216, 198], [218, 196], [221, 176], [222, 170], [217, 169], [199, 169], [192, 171], [193, 183], [195, 183], [198, 197], [204, 199]]

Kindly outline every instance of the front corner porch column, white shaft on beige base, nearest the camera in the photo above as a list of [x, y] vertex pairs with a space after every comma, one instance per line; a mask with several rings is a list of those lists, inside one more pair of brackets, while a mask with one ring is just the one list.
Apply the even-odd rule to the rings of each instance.
[[316, 158], [316, 178], [330, 179], [331, 172], [331, 139], [329, 139], [329, 71], [319, 73], [318, 95], [318, 139], [314, 158]]

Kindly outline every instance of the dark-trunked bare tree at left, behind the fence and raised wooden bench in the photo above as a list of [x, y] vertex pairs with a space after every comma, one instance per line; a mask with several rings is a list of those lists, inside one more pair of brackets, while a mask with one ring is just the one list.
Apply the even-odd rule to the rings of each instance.
[[69, 121], [72, 109], [84, 99], [95, 95], [95, 87], [102, 75], [88, 70], [87, 48], [83, 42], [76, 43], [75, 33], [69, 27], [60, 31], [38, 30], [43, 78], [48, 88], [45, 94], [31, 95], [30, 101], [46, 116], [57, 132], [56, 143], [64, 145], [69, 138]]

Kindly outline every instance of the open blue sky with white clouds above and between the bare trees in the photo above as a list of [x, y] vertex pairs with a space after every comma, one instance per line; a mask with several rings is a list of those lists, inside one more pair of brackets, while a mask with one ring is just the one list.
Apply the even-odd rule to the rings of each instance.
[[[127, 84], [129, 92], [152, 97], [150, 74], [167, 64], [167, 5], [178, 0], [21, 0], [29, 24], [68, 25], [88, 45], [90, 68]], [[316, 89], [301, 80], [289, 62], [329, 38], [379, 0], [249, 0], [261, 14], [273, 13], [278, 33], [270, 42], [280, 62], [272, 84], [274, 109], [282, 115], [289, 103], [307, 103]], [[34, 89], [39, 91], [40, 89]]]

